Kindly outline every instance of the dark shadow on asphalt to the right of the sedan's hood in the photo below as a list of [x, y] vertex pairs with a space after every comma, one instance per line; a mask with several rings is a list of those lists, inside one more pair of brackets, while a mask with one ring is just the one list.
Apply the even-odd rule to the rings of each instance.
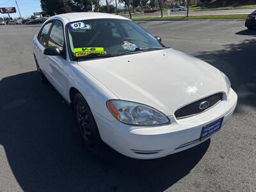
[[[256, 33], [255, 33], [256, 34]], [[240, 104], [256, 108], [256, 40], [224, 45], [224, 49], [200, 52], [196, 57], [211, 63], [224, 72], [238, 94], [236, 112]]]

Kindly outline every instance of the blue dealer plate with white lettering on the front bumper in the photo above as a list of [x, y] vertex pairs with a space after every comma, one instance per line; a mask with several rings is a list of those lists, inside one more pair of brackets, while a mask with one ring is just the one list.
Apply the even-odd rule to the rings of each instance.
[[212, 122], [211, 124], [204, 125], [204, 127], [202, 127], [200, 141], [204, 140], [205, 138], [208, 138], [215, 132], [220, 131], [222, 122], [223, 122], [223, 117], [216, 120], [215, 122]]

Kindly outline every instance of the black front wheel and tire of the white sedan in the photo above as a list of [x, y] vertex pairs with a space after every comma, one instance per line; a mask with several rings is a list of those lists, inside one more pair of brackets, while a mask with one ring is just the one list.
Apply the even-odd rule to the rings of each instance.
[[81, 93], [76, 93], [72, 100], [77, 127], [84, 143], [89, 147], [99, 147], [102, 143], [99, 129], [92, 115], [92, 111]]

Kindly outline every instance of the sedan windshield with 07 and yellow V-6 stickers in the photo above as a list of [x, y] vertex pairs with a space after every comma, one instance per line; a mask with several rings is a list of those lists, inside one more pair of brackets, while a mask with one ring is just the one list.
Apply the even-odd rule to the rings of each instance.
[[81, 20], [69, 23], [67, 28], [72, 58], [75, 59], [89, 54], [119, 56], [164, 48], [154, 36], [131, 20]]

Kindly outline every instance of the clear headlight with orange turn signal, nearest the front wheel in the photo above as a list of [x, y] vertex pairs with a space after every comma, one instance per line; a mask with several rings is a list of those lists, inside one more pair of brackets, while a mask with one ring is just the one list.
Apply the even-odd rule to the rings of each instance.
[[159, 125], [170, 122], [169, 118], [154, 108], [125, 100], [108, 100], [108, 109], [115, 118], [125, 124]]

